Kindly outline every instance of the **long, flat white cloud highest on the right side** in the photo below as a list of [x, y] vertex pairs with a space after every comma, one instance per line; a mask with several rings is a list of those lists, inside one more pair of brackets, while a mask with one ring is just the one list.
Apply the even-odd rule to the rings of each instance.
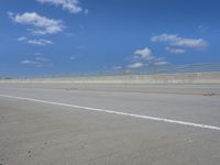
[[152, 42], [162, 42], [167, 43], [172, 46], [178, 46], [178, 47], [190, 47], [190, 48], [197, 48], [197, 50], [204, 50], [208, 46], [208, 42], [202, 38], [187, 38], [187, 37], [180, 37], [176, 34], [162, 34], [153, 36]]

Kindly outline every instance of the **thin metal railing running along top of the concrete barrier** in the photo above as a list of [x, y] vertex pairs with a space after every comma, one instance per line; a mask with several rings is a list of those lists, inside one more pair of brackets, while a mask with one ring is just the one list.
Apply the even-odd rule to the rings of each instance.
[[12, 78], [57, 78], [57, 77], [88, 77], [88, 76], [121, 76], [121, 75], [153, 75], [153, 74], [186, 74], [186, 73], [220, 73], [220, 63], [200, 63], [200, 64], [185, 64], [185, 65], [163, 65], [163, 66], [145, 66], [136, 69], [121, 68], [121, 69], [105, 69], [91, 73], [75, 73], [68, 74], [40, 74], [35, 76], [19, 76], [19, 77], [1, 77], [0, 79]]

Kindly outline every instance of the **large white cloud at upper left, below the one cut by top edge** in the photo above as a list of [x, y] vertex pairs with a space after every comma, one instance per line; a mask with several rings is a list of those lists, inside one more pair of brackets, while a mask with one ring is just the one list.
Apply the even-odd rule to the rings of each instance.
[[35, 12], [25, 12], [23, 14], [8, 12], [8, 14], [15, 23], [31, 25], [32, 29], [28, 30], [33, 34], [56, 34], [64, 30], [63, 21], [48, 19]]

